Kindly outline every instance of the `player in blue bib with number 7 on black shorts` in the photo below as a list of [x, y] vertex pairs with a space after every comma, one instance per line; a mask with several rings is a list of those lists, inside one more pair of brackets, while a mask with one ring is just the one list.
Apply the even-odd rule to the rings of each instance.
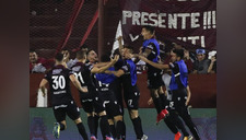
[[124, 65], [117, 71], [105, 71], [106, 73], [113, 73], [116, 77], [121, 77], [124, 100], [127, 104], [131, 121], [133, 124], [137, 140], [147, 140], [148, 137], [143, 133], [141, 118], [139, 116], [139, 96], [140, 92], [137, 86], [137, 69], [132, 58], [132, 49], [125, 47], [124, 49]]

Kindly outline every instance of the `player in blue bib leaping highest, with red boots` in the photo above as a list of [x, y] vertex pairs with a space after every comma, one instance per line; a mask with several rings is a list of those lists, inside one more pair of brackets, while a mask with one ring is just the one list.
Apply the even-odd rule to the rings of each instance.
[[[159, 61], [160, 46], [157, 40], [154, 38], [155, 31], [153, 26], [147, 25], [142, 27], [143, 46], [140, 48], [140, 55], [148, 58], [152, 62]], [[157, 117], [156, 124], [160, 122], [168, 112], [162, 105], [164, 94], [161, 93], [161, 88], [163, 85], [162, 81], [162, 70], [147, 63], [148, 67], [148, 88], [150, 89], [151, 97], [155, 105]]]

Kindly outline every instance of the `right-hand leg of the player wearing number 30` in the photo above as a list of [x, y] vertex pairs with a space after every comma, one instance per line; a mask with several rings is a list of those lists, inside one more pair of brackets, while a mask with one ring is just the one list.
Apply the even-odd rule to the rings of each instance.
[[80, 117], [80, 108], [72, 101], [66, 109], [68, 116], [75, 122], [77, 128], [84, 140], [89, 140], [86, 130]]

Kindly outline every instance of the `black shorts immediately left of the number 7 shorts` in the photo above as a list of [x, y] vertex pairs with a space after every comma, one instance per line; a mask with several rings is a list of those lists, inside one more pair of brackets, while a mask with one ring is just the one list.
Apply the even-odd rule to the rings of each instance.
[[121, 106], [118, 104], [114, 92], [102, 92], [101, 96], [103, 97], [108, 118], [114, 118], [117, 115], [122, 115]]

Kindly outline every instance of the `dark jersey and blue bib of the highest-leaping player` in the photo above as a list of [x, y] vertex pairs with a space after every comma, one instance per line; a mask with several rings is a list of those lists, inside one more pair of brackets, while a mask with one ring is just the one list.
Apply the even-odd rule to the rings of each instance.
[[[157, 40], [155, 38], [144, 40], [142, 51], [144, 52], [147, 48], [151, 49], [151, 54], [147, 58], [153, 62], [157, 62], [160, 56], [160, 46]], [[148, 74], [151, 74], [153, 72], [161, 72], [160, 69], [156, 69], [149, 63], [147, 63], [147, 67], [148, 67]]]

